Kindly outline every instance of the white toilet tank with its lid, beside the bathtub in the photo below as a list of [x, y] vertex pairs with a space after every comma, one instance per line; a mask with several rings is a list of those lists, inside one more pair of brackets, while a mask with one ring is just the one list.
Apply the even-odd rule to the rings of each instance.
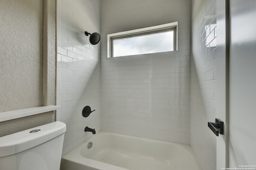
[[65, 131], [56, 121], [0, 137], [0, 170], [59, 170]]

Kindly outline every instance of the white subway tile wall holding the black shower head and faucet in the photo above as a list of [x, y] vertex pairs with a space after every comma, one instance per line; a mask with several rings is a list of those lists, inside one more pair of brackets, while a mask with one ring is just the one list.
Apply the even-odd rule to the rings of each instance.
[[[100, 32], [100, 0], [57, 0], [57, 121], [67, 125], [62, 154], [100, 131], [100, 43], [89, 33]], [[84, 106], [96, 109], [82, 117]]]

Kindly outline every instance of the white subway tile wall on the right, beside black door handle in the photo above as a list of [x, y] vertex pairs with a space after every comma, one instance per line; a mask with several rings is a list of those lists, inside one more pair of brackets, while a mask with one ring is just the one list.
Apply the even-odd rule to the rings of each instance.
[[216, 170], [216, 26], [216, 0], [192, 1], [190, 145], [207, 170]]

